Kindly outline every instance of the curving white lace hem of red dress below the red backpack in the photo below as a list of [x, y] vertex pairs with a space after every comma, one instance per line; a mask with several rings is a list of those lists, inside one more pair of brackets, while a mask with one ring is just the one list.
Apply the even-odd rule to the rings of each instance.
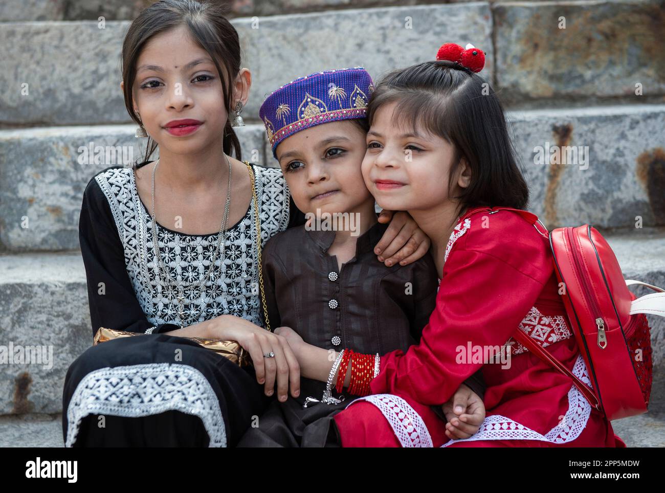
[[[591, 388], [589, 371], [581, 355], [575, 361], [573, 374]], [[557, 426], [545, 433], [545, 435], [541, 435], [537, 431], [520, 425], [517, 421], [513, 421], [505, 416], [491, 415], [485, 418], [478, 433], [473, 435], [473, 437], [451, 440], [442, 446], [477, 440], [537, 440], [550, 443], [568, 443], [579, 437], [580, 433], [587, 426], [587, 421], [589, 421], [589, 416], [591, 415], [591, 404], [589, 404], [589, 401], [585, 399], [584, 395], [582, 395], [575, 385], [572, 385], [568, 392], [568, 404], [568, 411], [566, 411], [563, 419], [561, 419]]]

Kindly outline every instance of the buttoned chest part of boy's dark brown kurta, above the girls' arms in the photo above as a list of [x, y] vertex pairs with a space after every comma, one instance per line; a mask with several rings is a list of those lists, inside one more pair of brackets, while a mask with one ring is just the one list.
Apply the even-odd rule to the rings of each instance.
[[356, 255], [338, 269], [327, 254], [334, 231], [305, 227], [278, 233], [263, 250], [263, 280], [272, 328], [288, 326], [317, 347], [384, 354], [420, 338], [436, 302], [429, 255], [387, 267], [374, 247], [388, 225], [356, 240]]

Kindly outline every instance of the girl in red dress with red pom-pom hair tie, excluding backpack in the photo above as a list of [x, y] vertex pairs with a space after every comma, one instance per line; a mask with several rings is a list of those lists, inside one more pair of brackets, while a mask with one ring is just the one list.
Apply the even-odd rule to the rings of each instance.
[[[364, 395], [334, 417], [342, 446], [623, 446], [569, 377], [513, 340], [522, 330], [590, 385], [547, 232], [530, 213], [505, 210], [525, 209], [528, 189], [503, 108], [476, 73], [484, 53], [452, 50], [388, 74], [368, 104], [366, 186], [430, 237], [441, 281], [420, 344], [339, 363], [336, 378]], [[294, 352], [312, 361], [315, 351]], [[327, 353], [319, 361], [325, 378]], [[472, 437], [450, 440], [430, 406], [478, 369], [487, 417]]]

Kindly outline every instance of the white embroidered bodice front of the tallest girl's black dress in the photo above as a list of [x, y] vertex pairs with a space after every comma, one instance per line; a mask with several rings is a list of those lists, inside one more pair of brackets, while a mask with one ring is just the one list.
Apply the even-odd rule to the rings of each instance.
[[[259, 199], [261, 243], [289, 224], [289, 189], [279, 168], [253, 166]], [[96, 176], [110, 205], [124, 247], [125, 264], [136, 298], [153, 325], [178, 324], [178, 300], [160, 282], [154, 261], [152, 217], [136, 192], [131, 168], [112, 168]], [[181, 235], [158, 225], [162, 260], [172, 278], [188, 284], [205, 275], [216, 247], [215, 235]], [[213, 278], [201, 290], [185, 290], [184, 314], [190, 323], [231, 314], [261, 325], [256, 226], [253, 204], [227, 231], [225, 255], [217, 258]]]

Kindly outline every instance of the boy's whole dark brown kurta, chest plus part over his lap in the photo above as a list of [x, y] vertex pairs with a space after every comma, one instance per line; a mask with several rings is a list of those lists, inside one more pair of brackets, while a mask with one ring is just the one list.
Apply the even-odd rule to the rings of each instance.
[[[355, 256], [342, 268], [327, 253], [335, 231], [301, 226], [271, 238], [262, 254], [271, 328], [288, 326], [308, 344], [335, 351], [348, 347], [383, 355], [417, 344], [436, 305], [436, 266], [430, 255], [405, 266], [380, 262], [374, 247], [387, 227], [376, 223], [360, 235]], [[482, 393], [477, 380], [467, 384]], [[324, 389], [325, 383], [302, 377], [298, 399], [273, 402], [240, 445], [325, 445], [332, 415], [358, 396], [344, 391], [338, 405], [315, 403], [303, 409], [305, 398], [321, 399]], [[333, 396], [339, 397], [334, 391]]]

